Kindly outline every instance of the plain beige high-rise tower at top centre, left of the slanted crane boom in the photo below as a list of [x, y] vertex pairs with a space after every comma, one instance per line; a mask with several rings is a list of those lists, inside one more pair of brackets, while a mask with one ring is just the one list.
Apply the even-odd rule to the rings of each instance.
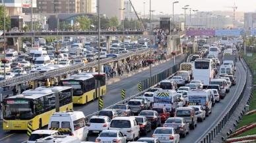
[[[123, 18], [123, 0], [104, 0], [100, 1], [100, 14], [106, 14], [106, 17], [117, 16], [121, 21]], [[126, 10], [126, 9], [125, 9]]]

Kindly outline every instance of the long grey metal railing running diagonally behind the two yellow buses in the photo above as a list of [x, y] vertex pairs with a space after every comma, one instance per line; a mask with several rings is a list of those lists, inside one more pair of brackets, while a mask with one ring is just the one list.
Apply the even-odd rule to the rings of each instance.
[[[131, 53], [125, 53], [125, 54], [120, 55], [117, 58], [109, 57], [109, 58], [106, 58], [106, 59], [100, 59], [100, 64], [104, 65], [106, 63], [112, 63], [114, 61], [125, 59], [125, 58], [133, 56], [133, 55], [146, 53], [149, 50], [150, 49], [143, 49], [143, 50], [134, 51], [134, 52], [131, 52]], [[44, 73], [33, 72], [33, 73], [25, 74], [25, 75], [22, 75], [22, 76], [17, 76], [15, 78], [9, 78], [9, 79], [6, 79], [6, 80], [2, 80], [2, 81], [0, 81], [0, 87], [22, 84], [24, 82], [29, 82], [29, 81], [40, 79], [40, 78], [51, 78], [51, 77], [54, 77], [54, 76], [59, 76], [61, 74], [77, 71], [77, 70], [80, 70], [80, 69], [88, 69], [90, 67], [96, 67], [97, 65], [98, 65], [98, 60], [90, 62], [90, 63], [86, 63], [85, 65], [84, 65], [84, 63], [80, 63], [80, 64], [77, 64], [77, 65], [71, 65], [69, 67], [63, 67], [63, 68], [60, 68], [60, 69], [55, 69], [55, 70], [44, 72]]]

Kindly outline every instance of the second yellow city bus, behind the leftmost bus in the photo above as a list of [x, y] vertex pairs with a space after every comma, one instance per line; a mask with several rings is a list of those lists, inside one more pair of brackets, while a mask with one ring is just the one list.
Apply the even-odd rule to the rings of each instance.
[[[73, 103], [85, 104], [98, 98], [95, 93], [96, 80], [94, 74], [97, 74], [97, 72], [83, 72], [60, 81], [61, 86], [71, 86], [73, 88]], [[101, 74], [104, 74], [104, 78], [100, 80], [100, 95], [103, 96], [106, 94], [106, 74]]]

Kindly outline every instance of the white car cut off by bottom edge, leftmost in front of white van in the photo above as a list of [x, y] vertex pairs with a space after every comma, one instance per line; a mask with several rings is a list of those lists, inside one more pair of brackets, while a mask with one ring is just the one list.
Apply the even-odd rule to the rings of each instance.
[[61, 135], [58, 130], [34, 130], [31, 132], [27, 143], [34, 143], [39, 138], [45, 138], [51, 135]]

